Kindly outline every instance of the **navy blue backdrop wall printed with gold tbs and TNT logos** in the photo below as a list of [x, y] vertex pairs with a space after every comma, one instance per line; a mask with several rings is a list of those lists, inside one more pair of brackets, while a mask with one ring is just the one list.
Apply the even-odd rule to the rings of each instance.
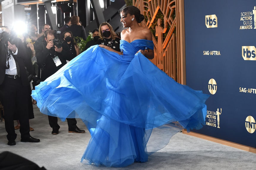
[[256, 1], [184, 0], [187, 85], [209, 94], [203, 135], [256, 148]]

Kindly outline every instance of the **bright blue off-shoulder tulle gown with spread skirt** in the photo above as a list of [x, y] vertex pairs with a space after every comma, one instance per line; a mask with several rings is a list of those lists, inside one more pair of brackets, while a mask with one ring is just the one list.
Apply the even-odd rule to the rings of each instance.
[[[81, 162], [116, 167], [146, 162], [169, 142], [171, 122], [188, 131], [205, 124], [209, 95], [175, 82], [136, 54], [153, 46], [148, 40], [121, 40], [123, 55], [92, 46], [32, 91], [42, 113], [86, 124], [91, 139]], [[148, 146], [153, 134], [159, 140]]]

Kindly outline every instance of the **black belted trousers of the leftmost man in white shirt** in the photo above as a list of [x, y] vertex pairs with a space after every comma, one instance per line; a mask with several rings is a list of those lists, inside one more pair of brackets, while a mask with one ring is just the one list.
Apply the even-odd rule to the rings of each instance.
[[5, 78], [0, 85], [0, 100], [4, 106], [5, 130], [8, 140], [15, 140], [17, 134], [14, 129], [15, 111], [20, 121], [21, 138], [30, 137], [28, 115], [28, 87], [23, 86], [20, 78]]

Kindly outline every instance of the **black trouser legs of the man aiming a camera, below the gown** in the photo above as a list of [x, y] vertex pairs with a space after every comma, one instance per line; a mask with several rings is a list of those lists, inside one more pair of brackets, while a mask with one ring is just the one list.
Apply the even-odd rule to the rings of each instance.
[[[58, 118], [54, 116], [48, 116], [50, 127], [53, 128], [53, 130], [59, 130], [60, 126], [58, 124]], [[75, 118], [67, 118], [67, 124], [68, 124], [68, 130], [75, 130], [78, 128], [76, 126], [76, 119]]]

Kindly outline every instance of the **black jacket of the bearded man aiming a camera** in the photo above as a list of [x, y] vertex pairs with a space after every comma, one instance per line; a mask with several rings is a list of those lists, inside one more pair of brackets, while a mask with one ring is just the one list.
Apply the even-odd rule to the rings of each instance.
[[[62, 43], [62, 51], [61, 53], [58, 53], [54, 50], [54, 48], [51, 48], [48, 50], [46, 48], [46, 41], [36, 46], [36, 57], [37, 57], [37, 64], [41, 67], [41, 81], [44, 81], [51, 75], [53, 75], [55, 72], [57, 72], [62, 66], [67, 64], [67, 61], [70, 61], [74, 58], [72, 52], [69, 49], [69, 46], [67, 45], [67, 42], [64, 41]], [[53, 58], [55, 56], [58, 56], [61, 65], [56, 67]]]

